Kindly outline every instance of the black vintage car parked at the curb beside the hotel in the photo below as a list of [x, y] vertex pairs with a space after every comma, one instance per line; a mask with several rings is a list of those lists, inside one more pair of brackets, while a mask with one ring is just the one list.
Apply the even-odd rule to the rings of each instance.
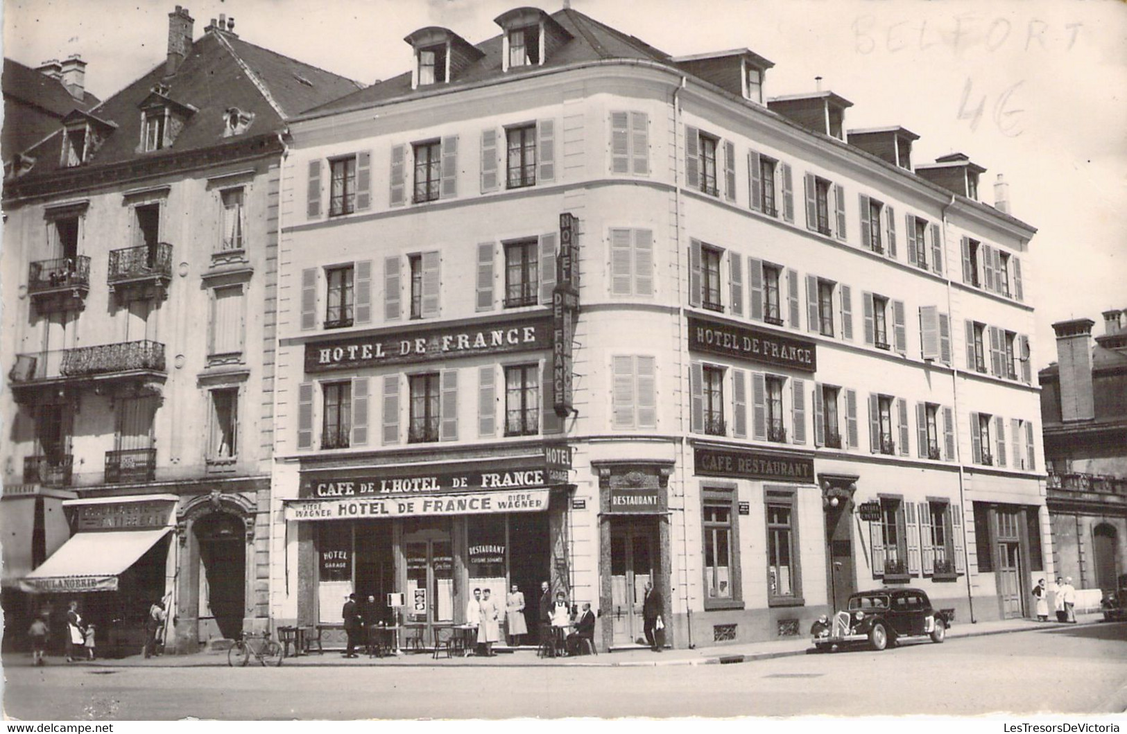
[[933, 609], [921, 589], [877, 589], [850, 596], [845, 611], [819, 620], [810, 630], [822, 651], [867, 643], [884, 650], [905, 637], [931, 637], [941, 643], [955, 620], [953, 611]]

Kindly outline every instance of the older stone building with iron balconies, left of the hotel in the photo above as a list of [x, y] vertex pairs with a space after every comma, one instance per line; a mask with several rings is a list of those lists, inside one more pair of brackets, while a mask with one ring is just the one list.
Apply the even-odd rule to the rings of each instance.
[[[7, 171], [5, 493], [73, 498], [6, 502], [36, 566], [11, 628], [71, 597], [110, 648], [162, 599], [181, 652], [267, 624], [285, 120], [360, 86], [233, 26], [177, 7], [166, 61]], [[76, 532], [44, 560], [44, 528]]]

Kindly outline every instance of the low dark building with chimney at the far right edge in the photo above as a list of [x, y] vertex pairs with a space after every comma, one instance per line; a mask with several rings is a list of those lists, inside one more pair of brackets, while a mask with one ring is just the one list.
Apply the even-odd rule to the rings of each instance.
[[1058, 574], [1116, 589], [1127, 573], [1127, 324], [1103, 312], [1053, 324], [1057, 361], [1038, 373]]

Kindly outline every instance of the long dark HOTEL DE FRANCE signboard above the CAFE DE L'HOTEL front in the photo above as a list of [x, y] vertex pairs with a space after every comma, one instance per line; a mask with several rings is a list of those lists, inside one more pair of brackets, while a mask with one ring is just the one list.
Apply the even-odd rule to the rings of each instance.
[[547, 316], [485, 323], [478, 320], [462, 326], [385, 329], [365, 337], [311, 342], [305, 344], [305, 372], [549, 349], [550, 321]]

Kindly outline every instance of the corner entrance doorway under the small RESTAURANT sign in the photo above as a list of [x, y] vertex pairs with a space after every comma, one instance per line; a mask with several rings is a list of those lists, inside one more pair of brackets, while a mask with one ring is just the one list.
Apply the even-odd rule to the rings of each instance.
[[646, 583], [657, 583], [657, 527], [653, 519], [611, 521], [611, 644], [645, 645]]

